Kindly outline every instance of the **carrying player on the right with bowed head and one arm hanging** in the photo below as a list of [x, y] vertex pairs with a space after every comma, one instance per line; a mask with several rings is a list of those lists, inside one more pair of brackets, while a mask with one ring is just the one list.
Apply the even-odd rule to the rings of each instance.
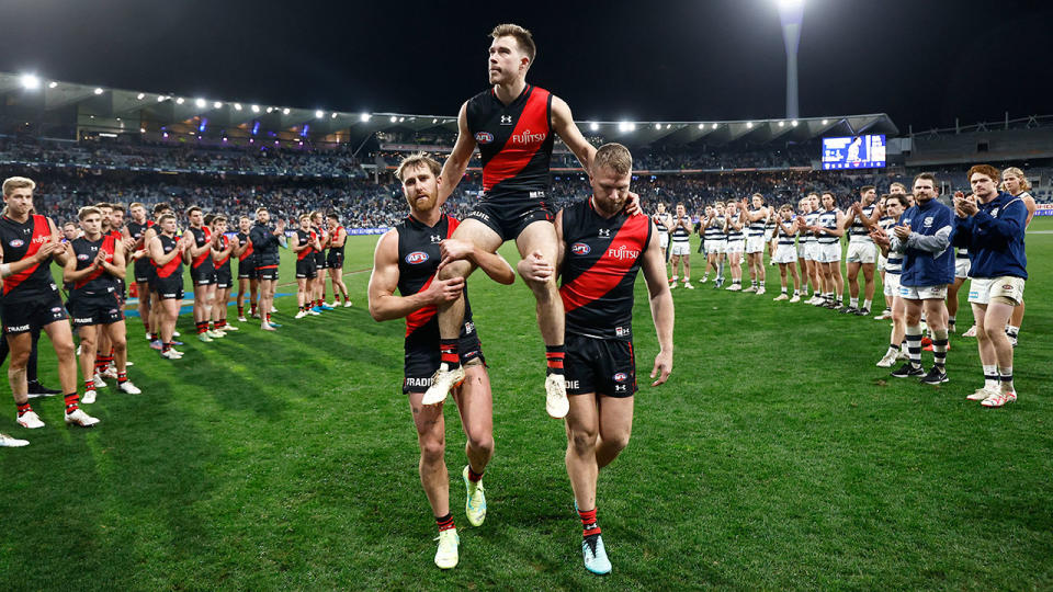
[[[556, 215], [559, 296], [566, 310], [567, 475], [582, 525], [581, 551], [592, 573], [611, 571], [596, 515], [599, 470], [629, 444], [636, 392], [633, 353], [633, 286], [641, 269], [647, 282], [659, 351], [652, 386], [672, 371], [672, 296], [666, 283], [655, 225], [625, 213], [633, 159], [620, 144], [601, 146], [589, 180], [592, 197]], [[524, 262], [536, 265], [536, 260]], [[536, 265], [533, 274], [555, 270]]]

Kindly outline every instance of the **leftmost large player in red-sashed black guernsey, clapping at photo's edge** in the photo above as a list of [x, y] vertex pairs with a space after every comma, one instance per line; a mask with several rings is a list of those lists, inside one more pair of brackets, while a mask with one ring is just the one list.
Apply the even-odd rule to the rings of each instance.
[[43, 329], [55, 346], [58, 379], [66, 398], [66, 424], [88, 428], [99, 420], [80, 409], [77, 395], [77, 360], [73, 335], [66, 322], [66, 308], [52, 277], [54, 258], [66, 264], [65, 246], [59, 241], [55, 223], [31, 214], [36, 183], [24, 177], [3, 182], [7, 214], [0, 218], [0, 277], [3, 278], [3, 333], [11, 348], [8, 379], [19, 408], [18, 422], [23, 428], [43, 428], [44, 422], [30, 407], [26, 394], [25, 365], [30, 357], [34, 329]]

